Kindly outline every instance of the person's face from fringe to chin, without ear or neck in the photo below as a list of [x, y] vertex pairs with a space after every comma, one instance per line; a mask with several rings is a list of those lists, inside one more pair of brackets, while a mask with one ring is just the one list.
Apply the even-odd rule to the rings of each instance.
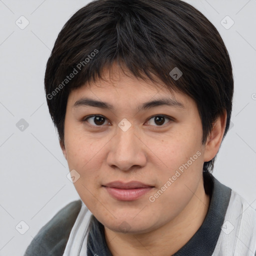
[[[111, 230], [143, 233], [174, 219], [196, 191], [205, 160], [202, 125], [190, 97], [111, 70], [70, 92], [62, 150], [92, 214]], [[170, 104], [145, 105], [162, 99]], [[144, 185], [110, 188], [112, 181]]]

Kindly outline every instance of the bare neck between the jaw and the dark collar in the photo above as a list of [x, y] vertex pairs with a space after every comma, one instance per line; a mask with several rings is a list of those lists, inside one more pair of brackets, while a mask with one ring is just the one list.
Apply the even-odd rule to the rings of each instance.
[[129, 234], [104, 227], [105, 239], [113, 256], [169, 256], [178, 251], [201, 226], [209, 207], [203, 180], [186, 207], [174, 219], [148, 233]]

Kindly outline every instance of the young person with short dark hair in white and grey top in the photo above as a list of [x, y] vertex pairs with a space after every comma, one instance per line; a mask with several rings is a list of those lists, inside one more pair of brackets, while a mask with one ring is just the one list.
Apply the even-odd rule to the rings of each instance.
[[233, 76], [202, 13], [92, 1], [58, 34], [44, 81], [80, 199], [25, 255], [255, 255], [255, 211], [211, 174]]

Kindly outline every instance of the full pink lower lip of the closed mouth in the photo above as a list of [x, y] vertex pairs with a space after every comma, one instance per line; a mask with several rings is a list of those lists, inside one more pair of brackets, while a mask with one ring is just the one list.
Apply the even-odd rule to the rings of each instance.
[[147, 193], [153, 187], [148, 186], [148, 187], [139, 187], [139, 188], [131, 188], [131, 189], [121, 189], [121, 188], [105, 186], [105, 188], [107, 192], [115, 199], [131, 201], [131, 200], [138, 199], [140, 196]]

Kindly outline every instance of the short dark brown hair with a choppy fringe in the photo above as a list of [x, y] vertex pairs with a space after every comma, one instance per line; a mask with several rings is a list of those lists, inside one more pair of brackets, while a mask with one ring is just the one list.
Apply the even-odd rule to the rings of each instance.
[[[60, 140], [69, 92], [102, 78], [103, 68], [114, 61], [135, 77], [152, 81], [157, 77], [164, 85], [156, 86], [190, 96], [201, 118], [203, 144], [214, 121], [226, 110], [225, 136], [233, 76], [227, 49], [214, 25], [181, 0], [94, 0], [64, 24], [46, 65], [46, 99]], [[177, 80], [169, 74], [174, 67], [182, 72]], [[204, 162], [204, 172], [213, 169], [214, 159]]]

